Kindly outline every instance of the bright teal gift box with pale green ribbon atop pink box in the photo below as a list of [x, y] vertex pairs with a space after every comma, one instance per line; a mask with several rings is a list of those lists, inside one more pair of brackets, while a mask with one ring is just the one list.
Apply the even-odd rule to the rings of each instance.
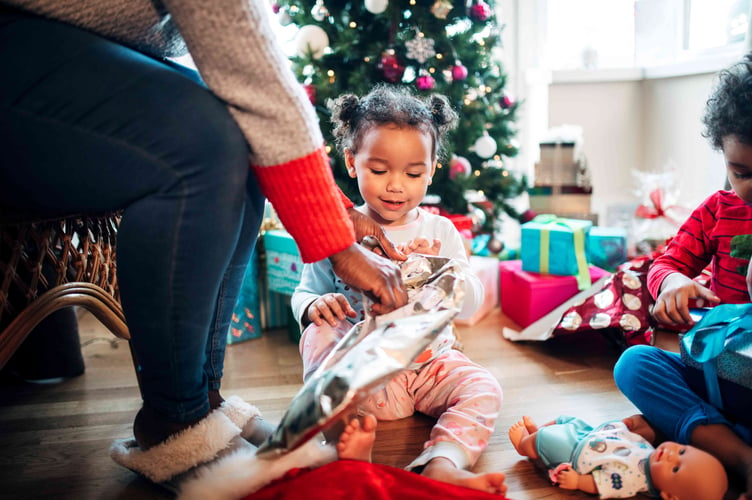
[[577, 286], [590, 286], [586, 241], [593, 223], [539, 215], [521, 226], [520, 257], [522, 270], [540, 274], [575, 276]]

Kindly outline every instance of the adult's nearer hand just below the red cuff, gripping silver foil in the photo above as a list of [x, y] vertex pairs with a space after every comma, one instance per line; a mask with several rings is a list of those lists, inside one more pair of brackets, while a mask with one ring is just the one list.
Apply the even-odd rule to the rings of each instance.
[[329, 260], [334, 273], [373, 301], [373, 313], [384, 314], [407, 304], [402, 273], [391, 261], [353, 243]]

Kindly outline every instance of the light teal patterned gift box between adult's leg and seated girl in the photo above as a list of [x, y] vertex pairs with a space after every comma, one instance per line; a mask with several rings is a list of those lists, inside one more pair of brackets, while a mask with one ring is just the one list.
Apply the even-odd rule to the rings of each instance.
[[303, 260], [295, 240], [287, 231], [279, 229], [265, 232], [263, 239], [269, 291], [292, 295], [303, 272]]

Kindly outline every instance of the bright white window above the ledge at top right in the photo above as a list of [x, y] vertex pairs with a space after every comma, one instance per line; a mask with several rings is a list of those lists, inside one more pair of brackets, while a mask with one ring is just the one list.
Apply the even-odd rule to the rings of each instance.
[[744, 50], [752, 0], [545, 0], [545, 5], [546, 66], [561, 70], [736, 57]]

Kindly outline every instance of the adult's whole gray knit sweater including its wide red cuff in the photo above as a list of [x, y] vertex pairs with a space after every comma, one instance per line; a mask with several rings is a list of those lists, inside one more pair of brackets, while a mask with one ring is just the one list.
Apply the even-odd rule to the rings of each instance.
[[272, 32], [266, 0], [0, 0], [148, 54], [187, 47], [251, 148], [264, 194], [312, 262], [354, 242], [318, 119]]

